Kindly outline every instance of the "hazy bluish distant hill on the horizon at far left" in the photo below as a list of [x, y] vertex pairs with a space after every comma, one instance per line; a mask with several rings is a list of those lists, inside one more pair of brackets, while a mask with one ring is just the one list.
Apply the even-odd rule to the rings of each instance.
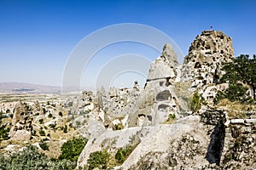
[[0, 94], [60, 94], [61, 87], [24, 82], [0, 82]]

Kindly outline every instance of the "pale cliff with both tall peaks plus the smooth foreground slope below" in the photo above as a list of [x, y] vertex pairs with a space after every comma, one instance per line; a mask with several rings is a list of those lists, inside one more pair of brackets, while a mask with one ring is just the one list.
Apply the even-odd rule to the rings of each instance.
[[[128, 128], [119, 133], [107, 131], [89, 142], [79, 156], [78, 165], [84, 167], [90, 153], [96, 150], [114, 154], [117, 149], [131, 144], [128, 139], [136, 136], [137, 147], [114, 169], [255, 167], [255, 160], [249, 160], [255, 154], [252, 149], [255, 122], [249, 121], [251, 123], [243, 127], [250, 135], [241, 136], [238, 147], [238, 139], [230, 137], [233, 135], [230, 131], [237, 127], [229, 125], [232, 120], [225, 109], [218, 110], [212, 104], [217, 91], [227, 88], [227, 84], [218, 82], [224, 74], [222, 66], [233, 58], [232, 40], [221, 31], [202, 31], [195, 37], [182, 65], [178, 64], [172, 46], [166, 44], [160, 57], [150, 66], [145, 87], [131, 105], [127, 114]], [[189, 105], [195, 93], [207, 105], [191, 115]], [[230, 161], [233, 157], [236, 160]]]

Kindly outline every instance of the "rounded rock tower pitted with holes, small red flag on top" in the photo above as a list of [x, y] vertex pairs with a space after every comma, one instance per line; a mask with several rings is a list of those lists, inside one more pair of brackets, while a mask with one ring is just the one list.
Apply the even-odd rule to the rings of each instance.
[[183, 61], [182, 80], [191, 81], [191, 91], [217, 83], [222, 65], [234, 59], [232, 39], [221, 31], [202, 31], [191, 43]]

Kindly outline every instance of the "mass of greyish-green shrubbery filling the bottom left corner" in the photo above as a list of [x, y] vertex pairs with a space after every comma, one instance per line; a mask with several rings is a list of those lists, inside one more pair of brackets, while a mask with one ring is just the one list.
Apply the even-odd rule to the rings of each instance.
[[68, 160], [50, 160], [39, 153], [35, 146], [29, 145], [24, 150], [11, 156], [0, 155], [0, 169], [31, 170], [31, 169], [67, 169], [73, 170], [76, 163]]

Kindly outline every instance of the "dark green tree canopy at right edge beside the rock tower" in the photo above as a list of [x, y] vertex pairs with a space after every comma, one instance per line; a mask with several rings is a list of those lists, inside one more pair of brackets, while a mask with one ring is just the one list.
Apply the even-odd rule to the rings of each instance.
[[229, 82], [230, 84], [237, 84], [242, 82], [251, 88], [253, 99], [255, 100], [256, 88], [256, 55], [252, 58], [249, 55], [241, 54], [236, 57], [233, 62], [224, 65], [224, 76], [221, 82]]

